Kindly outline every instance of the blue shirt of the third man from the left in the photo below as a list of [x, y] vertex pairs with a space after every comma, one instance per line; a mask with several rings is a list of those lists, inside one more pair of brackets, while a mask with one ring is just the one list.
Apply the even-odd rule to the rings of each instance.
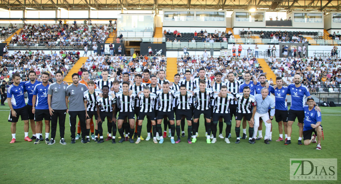
[[48, 84], [44, 86], [42, 83], [37, 84], [33, 89], [33, 95], [36, 95], [37, 98], [35, 100], [35, 109], [48, 109], [47, 103], [47, 91]]

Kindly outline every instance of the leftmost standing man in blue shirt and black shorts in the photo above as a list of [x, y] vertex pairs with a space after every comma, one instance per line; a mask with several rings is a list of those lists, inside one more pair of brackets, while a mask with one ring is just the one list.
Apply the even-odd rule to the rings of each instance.
[[[10, 116], [8, 118], [8, 122], [11, 122], [11, 132], [12, 132], [12, 140], [10, 143], [15, 143], [15, 132], [17, 130], [16, 125], [21, 117], [21, 120], [24, 121], [24, 132], [25, 132], [25, 140], [32, 141], [28, 137], [28, 113], [24, 99], [24, 84], [25, 82], [20, 82], [19, 73], [12, 74], [13, 84], [7, 89], [7, 100], [8, 106], [10, 107]], [[11, 102], [11, 103], [10, 103]]]

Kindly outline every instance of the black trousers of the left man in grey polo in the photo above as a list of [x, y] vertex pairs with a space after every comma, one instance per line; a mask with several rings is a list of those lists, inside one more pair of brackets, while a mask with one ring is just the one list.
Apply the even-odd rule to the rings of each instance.
[[54, 111], [55, 112], [53, 112], [53, 115], [51, 116], [51, 138], [55, 139], [56, 137], [58, 120], [60, 138], [64, 138], [66, 109]]

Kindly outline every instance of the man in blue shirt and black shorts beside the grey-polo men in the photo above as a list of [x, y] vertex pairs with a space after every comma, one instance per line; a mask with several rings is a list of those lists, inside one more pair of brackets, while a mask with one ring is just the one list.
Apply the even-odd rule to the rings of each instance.
[[[48, 136], [50, 134], [50, 121], [51, 116], [48, 110], [48, 103], [47, 103], [47, 91], [48, 91], [48, 79], [50, 74], [47, 72], [43, 72], [41, 79], [42, 83], [37, 84], [33, 89], [33, 97], [32, 97], [32, 113], [34, 114], [34, 121], [36, 122], [35, 132], [40, 131], [40, 127], [43, 127], [43, 119], [45, 120], [45, 144], [48, 144], [50, 141]], [[40, 137], [40, 136], [39, 136]], [[34, 144], [39, 144], [40, 139], [39, 137], [36, 138]], [[54, 140], [52, 139], [51, 143]]]

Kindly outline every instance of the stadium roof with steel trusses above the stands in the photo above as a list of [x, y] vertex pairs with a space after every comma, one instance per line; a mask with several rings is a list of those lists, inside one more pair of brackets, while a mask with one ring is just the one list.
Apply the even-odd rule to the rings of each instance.
[[1, 0], [6, 10], [249, 10], [340, 11], [341, 0]]

